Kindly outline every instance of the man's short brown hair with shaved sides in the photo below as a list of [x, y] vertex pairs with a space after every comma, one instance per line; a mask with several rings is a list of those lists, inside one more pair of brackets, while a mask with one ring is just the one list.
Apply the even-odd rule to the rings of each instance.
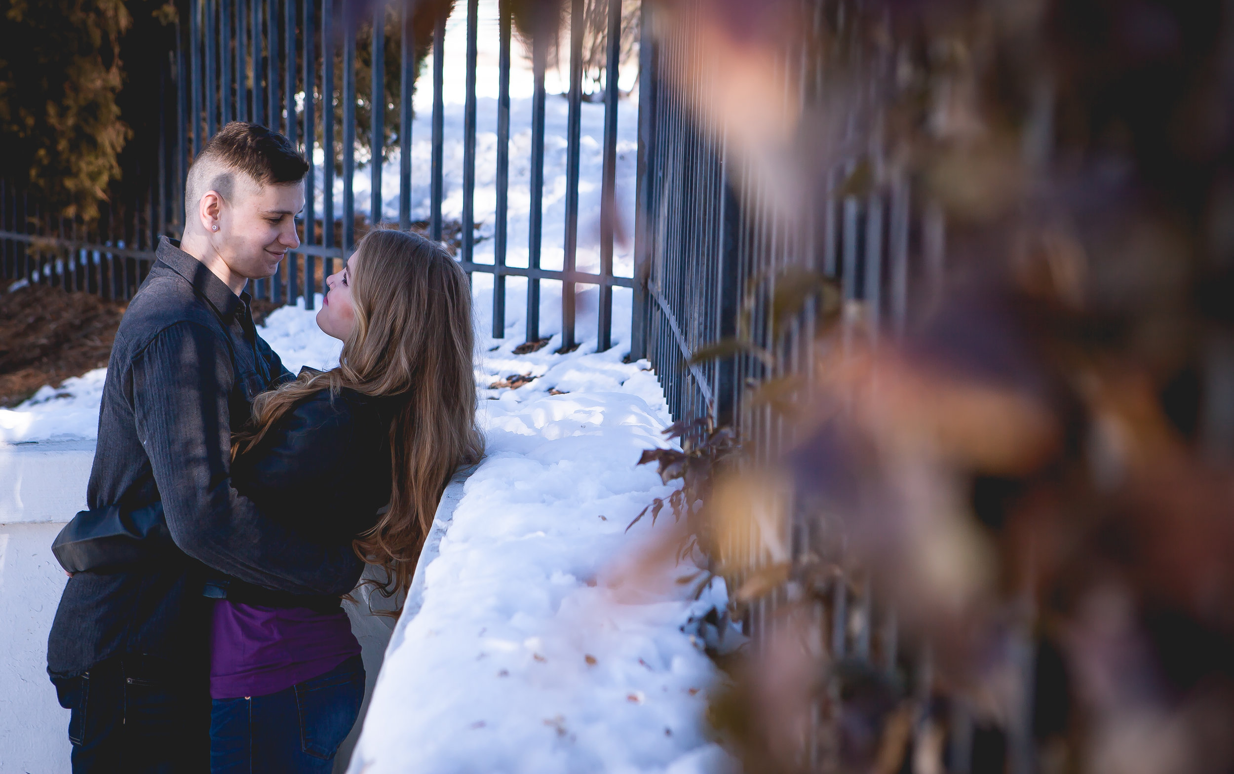
[[308, 162], [279, 132], [257, 123], [232, 121], [211, 137], [193, 159], [184, 185], [185, 212], [196, 212], [206, 191], [227, 201], [236, 194], [236, 175], [258, 185], [290, 185], [304, 180]]

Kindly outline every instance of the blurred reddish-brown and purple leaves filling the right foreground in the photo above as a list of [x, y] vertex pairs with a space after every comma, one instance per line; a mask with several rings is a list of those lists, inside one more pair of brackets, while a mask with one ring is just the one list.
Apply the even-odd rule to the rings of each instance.
[[750, 237], [779, 268], [694, 356], [793, 374], [749, 385], [694, 516], [761, 626], [712, 705], [745, 769], [1234, 770], [1229, 5], [663, 0], [656, 25], [695, 46], [665, 80], [760, 228], [793, 244], [827, 181], [911, 191], [902, 333]]

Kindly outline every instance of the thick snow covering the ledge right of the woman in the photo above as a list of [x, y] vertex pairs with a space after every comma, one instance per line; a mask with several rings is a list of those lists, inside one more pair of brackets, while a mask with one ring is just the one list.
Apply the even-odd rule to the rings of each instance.
[[624, 530], [669, 493], [634, 467], [668, 421], [643, 368], [574, 358], [544, 379], [591, 373], [612, 391], [521, 388], [481, 406], [487, 458], [427, 567], [423, 606], [395, 630], [350, 772], [724, 765], [703, 733], [716, 669], [680, 628], [723, 606], [722, 585], [692, 602], [674, 583], [696, 572], [682, 563], [632, 595], [612, 569], [656, 535]]

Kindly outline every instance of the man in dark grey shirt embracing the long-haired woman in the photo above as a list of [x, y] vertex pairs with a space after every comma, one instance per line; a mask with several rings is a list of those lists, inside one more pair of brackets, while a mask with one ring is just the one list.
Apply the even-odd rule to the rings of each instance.
[[299, 246], [306, 170], [281, 135], [223, 127], [189, 170], [181, 243], [160, 241], [116, 331], [89, 507], [162, 500], [175, 547], [138, 569], [78, 573], [64, 589], [47, 668], [72, 710], [74, 772], [209, 769], [204, 564], [295, 594], [338, 596], [359, 578], [350, 551], [267, 520], [228, 473], [253, 397], [290, 378], [243, 288]]

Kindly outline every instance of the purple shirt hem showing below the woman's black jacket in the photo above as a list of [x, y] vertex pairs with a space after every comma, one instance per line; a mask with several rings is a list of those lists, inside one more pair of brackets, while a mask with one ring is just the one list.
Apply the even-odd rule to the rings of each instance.
[[210, 697], [265, 696], [326, 674], [360, 653], [342, 609], [215, 602]]

